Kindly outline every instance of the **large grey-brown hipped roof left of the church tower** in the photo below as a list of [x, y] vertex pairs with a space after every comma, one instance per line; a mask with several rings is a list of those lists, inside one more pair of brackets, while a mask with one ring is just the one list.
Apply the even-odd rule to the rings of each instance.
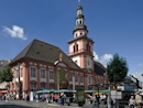
[[70, 68], [81, 71], [81, 68], [75, 62], [73, 62], [59, 47], [38, 40], [32, 41], [20, 54], [18, 54], [18, 56], [15, 56], [11, 64], [22, 58], [36, 60], [54, 64], [56, 61], [59, 61], [61, 53], [63, 55], [63, 62], [67, 63]]

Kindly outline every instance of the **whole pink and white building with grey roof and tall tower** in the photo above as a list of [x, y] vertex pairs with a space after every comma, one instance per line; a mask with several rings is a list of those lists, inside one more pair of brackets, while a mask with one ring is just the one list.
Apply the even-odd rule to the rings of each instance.
[[38, 40], [32, 41], [18, 54], [10, 64], [14, 76], [10, 83], [10, 93], [18, 97], [18, 63], [20, 64], [20, 89], [23, 98], [32, 89], [35, 91], [59, 89], [55, 78], [61, 69], [66, 72], [67, 89], [75, 90], [78, 85], [85, 86], [85, 89], [92, 89], [89, 85], [107, 83], [106, 68], [94, 62], [94, 41], [88, 37], [81, 6], [77, 8], [76, 26], [73, 34], [74, 39], [68, 42], [69, 56], [59, 47]]

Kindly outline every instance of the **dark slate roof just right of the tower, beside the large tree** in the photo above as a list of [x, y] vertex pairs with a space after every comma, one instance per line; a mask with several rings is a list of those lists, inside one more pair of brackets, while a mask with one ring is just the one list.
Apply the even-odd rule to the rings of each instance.
[[106, 74], [106, 67], [103, 67], [102, 64], [100, 64], [99, 62], [95, 62], [95, 73], [98, 75], [105, 75]]

